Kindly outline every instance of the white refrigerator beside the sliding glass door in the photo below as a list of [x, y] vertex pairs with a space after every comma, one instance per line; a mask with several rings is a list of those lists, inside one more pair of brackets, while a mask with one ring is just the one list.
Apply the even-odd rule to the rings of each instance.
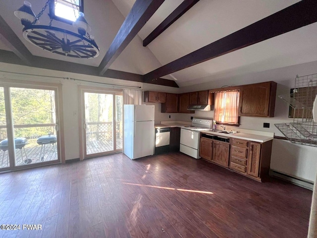
[[154, 154], [154, 105], [123, 106], [123, 153], [131, 160]]

